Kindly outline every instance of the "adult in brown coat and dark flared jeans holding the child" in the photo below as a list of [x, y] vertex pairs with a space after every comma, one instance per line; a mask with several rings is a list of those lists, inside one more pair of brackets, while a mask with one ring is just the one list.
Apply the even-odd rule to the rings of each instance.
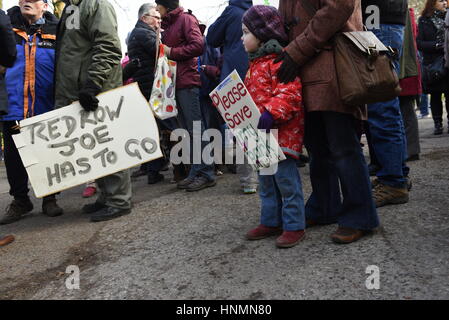
[[281, 0], [279, 11], [291, 26], [278, 77], [303, 83], [306, 110], [305, 144], [313, 192], [307, 201], [309, 227], [338, 223], [331, 238], [337, 243], [359, 240], [379, 226], [368, 168], [357, 135], [365, 105], [345, 105], [340, 97], [334, 52], [329, 40], [337, 32], [363, 30], [360, 0]]

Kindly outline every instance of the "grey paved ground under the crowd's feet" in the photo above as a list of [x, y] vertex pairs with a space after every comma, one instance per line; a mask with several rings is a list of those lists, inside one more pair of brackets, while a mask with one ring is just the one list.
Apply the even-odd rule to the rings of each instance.
[[[62, 217], [42, 216], [35, 200], [26, 219], [0, 226], [17, 237], [0, 249], [0, 299], [448, 299], [449, 135], [432, 136], [430, 119], [420, 125], [410, 202], [380, 209], [380, 230], [355, 244], [331, 243], [335, 226], [310, 229], [289, 250], [245, 241], [259, 201], [240, 194], [236, 176], [188, 194], [167, 174], [156, 187], [137, 181], [133, 213], [111, 222], [89, 223], [77, 188], [64, 192]], [[1, 194], [0, 210], [8, 203]], [[80, 267], [80, 290], [65, 286], [69, 265]], [[379, 290], [365, 286], [370, 265], [380, 268]]]

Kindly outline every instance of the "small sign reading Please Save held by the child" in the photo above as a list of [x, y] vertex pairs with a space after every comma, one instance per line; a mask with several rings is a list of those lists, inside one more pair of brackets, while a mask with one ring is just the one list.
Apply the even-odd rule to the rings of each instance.
[[273, 133], [257, 129], [260, 112], [237, 71], [211, 92], [210, 97], [255, 170], [285, 160]]

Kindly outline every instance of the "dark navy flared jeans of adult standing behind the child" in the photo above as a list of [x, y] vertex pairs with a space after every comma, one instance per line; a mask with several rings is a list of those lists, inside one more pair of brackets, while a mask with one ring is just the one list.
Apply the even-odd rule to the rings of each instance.
[[338, 112], [308, 112], [305, 133], [312, 182], [306, 219], [358, 230], [378, 227], [357, 120]]

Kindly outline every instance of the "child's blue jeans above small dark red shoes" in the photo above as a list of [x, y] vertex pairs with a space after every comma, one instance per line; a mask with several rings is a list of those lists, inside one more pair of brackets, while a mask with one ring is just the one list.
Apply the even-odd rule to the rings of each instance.
[[304, 195], [296, 161], [282, 161], [274, 175], [259, 174], [259, 184], [261, 223], [282, 226], [284, 231], [304, 230]]

